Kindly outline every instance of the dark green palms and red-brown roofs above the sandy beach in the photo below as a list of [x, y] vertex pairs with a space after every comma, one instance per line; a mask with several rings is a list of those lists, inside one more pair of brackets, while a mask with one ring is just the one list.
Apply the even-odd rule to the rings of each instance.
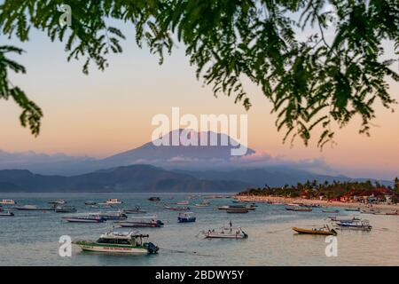
[[366, 180], [364, 182], [333, 181], [318, 183], [316, 180], [304, 184], [285, 185], [282, 187], [249, 188], [238, 195], [279, 196], [290, 198], [318, 199], [328, 201], [360, 201], [360, 202], [399, 202], [399, 179], [396, 177], [394, 186], [381, 185], [379, 182]]

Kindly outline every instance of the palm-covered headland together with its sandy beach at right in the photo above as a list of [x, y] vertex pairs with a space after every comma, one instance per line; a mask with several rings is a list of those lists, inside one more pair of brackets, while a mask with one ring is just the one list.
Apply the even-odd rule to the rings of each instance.
[[318, 183], [307, 181], [304, 184], [283, 187], [248, 188], [235, 195], [239, 201], [259, 201], [268, 203], [302, 203], [325, 207], [374, 208], [381, 211], [399, 209], [399, 179], [393, 186], [378, 182], [339, 182]]

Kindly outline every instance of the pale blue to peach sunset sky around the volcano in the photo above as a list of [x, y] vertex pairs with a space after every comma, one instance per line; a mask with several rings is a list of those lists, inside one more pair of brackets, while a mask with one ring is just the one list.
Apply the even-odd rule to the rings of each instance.
[[[246, 114], [233, 98], [215, 99], [211, 88], [196, 79], [182, 45], [160, 66], [157, 56], [137, 48], [133, 29], [125, 35], [124, 52], [109, 57], [105, 72], [91, 66], [90, 75], [82, 74], [82, 60], [66, 62], [64, 44], [51, 43], [41, 32], [32, 32], [28, 43], [0, 36], [1, 44], [12, 43], [26, 51], [13, 58], [27, 67], [27, 74], [12, 74], [11, 80], [44, 112], [41, 135], [34, 138], [20, 127], [20, 108], [0, 100], [0, 149], [106, 157], [150, 141], [153, 115], [171, 115], [173, 106], [179, 106], [182, 114], [198, 116]], [[399, 85], [390, 83], [391, 94], [399, 100]], [[358, 134], [356, 119], [337, 131], [336, 146], [325, 146], [321, 152], [317, 133], [308, 147], [301, 140], [293, 147], [283, 145], [284, 132], [276, 130], [270, 102], [251, 83], [246, 83], [246, 91], [253, 103], [247, 112], [248, 146], [256, 152], [293, 161], [322, 159], [350, 177], [399, 176], [399, 107], [392, 114], [378, 106], [371, 138]]]

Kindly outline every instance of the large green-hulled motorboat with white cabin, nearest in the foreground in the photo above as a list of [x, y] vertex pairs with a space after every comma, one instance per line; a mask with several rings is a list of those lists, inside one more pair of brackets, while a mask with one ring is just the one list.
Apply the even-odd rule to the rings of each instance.
[[130, 255], [156, 254], [159, 250], [152, 242], [145, 241], [148, 234], [135, 232], [109, 232], [100, 235], [97, 241], [73, 241], [83, 251], [123, 253]]

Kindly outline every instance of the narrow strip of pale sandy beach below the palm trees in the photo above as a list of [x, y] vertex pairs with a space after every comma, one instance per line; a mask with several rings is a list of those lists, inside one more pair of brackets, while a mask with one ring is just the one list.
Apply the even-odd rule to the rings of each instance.
[[339, 207], [348, 209], [379, 210], [381, 213], [391, 213], [395, 210], [399, 210], [399, 204], [364, 204], [360, 202], [341, 202], [341, 201], [320, 201], [320, 200], [310, 200], [302, 198], [292, 198], [292, 197], [280, 197], [280, 196], [255, 196], [255, 195], [235, 195], [234, 199], [238, 201], [249, 201], [249, 202], [278, 202], [278, 203], [295, 203], [301, 202], [304, 205], [320, 205], [322, 207]]

